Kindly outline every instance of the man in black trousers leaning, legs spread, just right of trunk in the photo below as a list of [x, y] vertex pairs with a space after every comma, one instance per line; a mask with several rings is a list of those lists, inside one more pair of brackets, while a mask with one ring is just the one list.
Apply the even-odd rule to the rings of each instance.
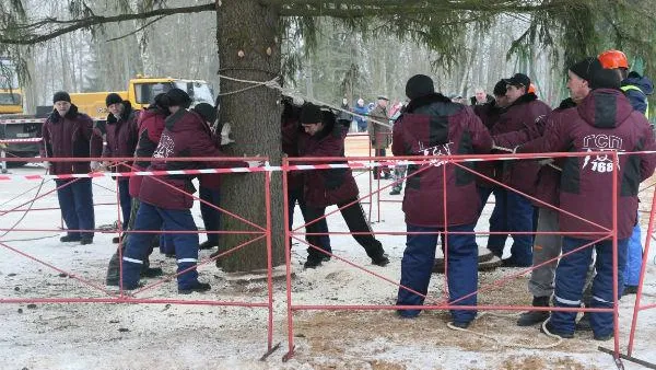
[[[348, 127], [338, 125], [331, 112], [312, 103], [303, 105], [300, 117], [305, 132], [298, 136], [298, 157], [344, 157], [344, 139]], [[337, 163], [345, 163], [339, 161]], [[307, 162], [320, 164], [321, 162]], [[336, 162], [331, 162], [336, 163]], [[325, 215], [326, 207], [337, 205], [351, 232], [371, 233], [362, 205], [358, 200], [358, 185], [351, 169], [312, 170], [303, 174], [304, 197], [307, 204], [307, 219], [316, 220]], [[347, 205], [350, 205], [347, 207]], [[343, 207], [343, 208], [342, 208]], [[312, 233], [320, 233], [317, 223], [307, 227]], [[321, 247], [318, 235], [307, 235], [311, 244]], [[389, 263], [385, 250], [379, 241], [372, 234], [353, 234], [353, 239], [364, 247], [372, 263], [386, 266]], [[311, 247], [305, 262], [306, 268], [314, 268], [321, 264], [325, 254]]]

